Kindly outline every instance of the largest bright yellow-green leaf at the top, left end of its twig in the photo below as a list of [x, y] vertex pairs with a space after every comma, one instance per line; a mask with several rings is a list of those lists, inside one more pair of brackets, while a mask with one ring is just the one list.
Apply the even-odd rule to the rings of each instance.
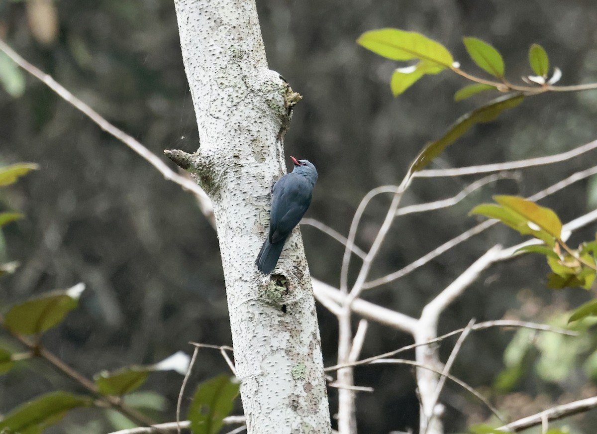
[[452, 54], [444, 45], [417, 32], [370, 30], [363, 33], [356, 43], [391, 60], [427, 60], [444, 68], [454, 63]]

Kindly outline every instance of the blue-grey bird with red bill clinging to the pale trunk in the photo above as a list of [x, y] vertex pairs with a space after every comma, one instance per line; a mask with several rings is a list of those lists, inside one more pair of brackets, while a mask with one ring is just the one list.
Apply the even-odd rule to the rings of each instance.
[[271, 274], [278, 263], [284, 243], [311, 204], [311, 192], [317, 181], [317, 170], [307, 160], [294, 162], [294, 170], [287, 173], [272, 188], [269, 236], [257, 256], [257, 269]]

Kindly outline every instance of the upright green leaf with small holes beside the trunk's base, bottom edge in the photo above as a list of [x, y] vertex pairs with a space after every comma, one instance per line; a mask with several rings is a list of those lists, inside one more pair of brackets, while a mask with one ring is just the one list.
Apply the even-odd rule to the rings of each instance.
[[230, 414], [239, 384], [235, 378], [218, 375], [199, 384], [189, 408], [193, 434], [216, 434]]

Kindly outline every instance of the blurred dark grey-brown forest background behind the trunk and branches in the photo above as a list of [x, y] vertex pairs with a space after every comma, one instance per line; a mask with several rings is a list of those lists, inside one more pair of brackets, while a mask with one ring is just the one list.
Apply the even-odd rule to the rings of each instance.
[[[423, 78], [394, 98], [389, 80], [396, 62], [359, 47], [355, 40], [361, 33], [381, 27], [421, 32], [448, 47], [463, 69], [476, 73], [461, 43], [463, 36], [475, 36], [504, 54], [512, 81], [532, 73], [528, 47], [537, 42], [562, 70], [562, 85], [597, 82], [593, 0], [258, 0], [257, 6], [270, 68], [303, 96], [294, 110], [285, 154], [307, 158], [318, 169], [306, 217], [344, 235], [370, 189], [398, 184], [425, 143], [488, 100], [479, 95], [454, 102], [454, 92], [469, 83], [449, 71]], [[164, 149], [193, 152], [199, 146], [173, 2], [0, 0], [0, 38], [157, 155]], [[5, 62], [0, 67], [7, 67]], [[26, 216], [2, 228], [0, 259], [21, 265], [0, 280], [0, 308], [85, 282], [79, 308], [48, 332], [44, 343], [88, 376], [151, 364], [179, 350], [190, 353], [189, 341], [231, 344], [216, 233], [193, 196], [164, 180], [44, 84], [25, 72], [22, 77], [21, 94], [0, 90], [0, 164], [36, 162], [40, 169], [0, 193], [0, 210]], [[597, 138], [596, 115], [597, 91], [528, 98], [497, 121], [473, 128], [432, 166], [461, 167], [573, 149]], [[467, 214], [491, 195], [529, 196], [591, 167], [592, 161], [594, 153], [525, 169], [454, 207], [399, 217], [372, 277], [411, 263], [478, 223]], [[418, 179], [404, 205], [456, 195], [470, 181]], [[373, 242], [389, 201], [381, 196], [367, 208], [358, 245]], [[575, 183], [541, 205], [553, 208], [563, 221], [580, 216], [597, 205], [597, 179]], [[312, 226], [301, 230], [312, 275], [338, 287], [343, 245]], [[594, 236], [592, 225], [575, 233], [573, 241]], [[415, 272], [366, 291], [363, 298], [418, 316], [426, 301], [488, 247], [519, 241], [518, 233], [493, 227]], [[444, 313], [440, 333], [464, 327], [471, 318], [564, 325], [563, 312], [589, 294], [549, 290], [547, 272], [541, 257], [528, 255], [492, 267]], [[318, 313], [324, 361], [333, 365], [336, 318], [321, 306]], [[581, 338], [553, 338], [547, 347], [525, 350], [509, 371], [504, 350], [509, 349], [512, 360], [520, 349], [508, 346], [513, 332], [472, 334], [453, 374], [512, 419], [595, 395], [597, 340], [587, 327]], [[0, 335], [0, 341], [18, 347], [7, 335]], [[371, 324], [362, 356], [408, 343], [410, 336]], [[450, 349], [442, 354], [444, 360]], [[202, 350], [191, 381], [227, 370], [218, 352]], [[356, 384], [375, 388], [357, 397], [361, 432], [416, 430], [418, 404], [410, 368], [374, 365], [357, 368], [355, 375]], [[176, 373], [150, 377], [144, 389], [166, 397], [158, 418], [173, 420], [181, 380]], [[0, 376], [0, 413], [39, 393], [68, 387], [77, 390], [42, 362], [21, 364]], [[332, 411], [335, 400], [336, 390], [330, 389]], [[449, 382], [442, 401], [447, 432], [465, 430], [490, 416]], [[591, 433], [596, 423], [593, 412], [564, 424], [572, 433]], [[81, 410], [69, 414], [55, 432], [109, 430], [99, 410]]]

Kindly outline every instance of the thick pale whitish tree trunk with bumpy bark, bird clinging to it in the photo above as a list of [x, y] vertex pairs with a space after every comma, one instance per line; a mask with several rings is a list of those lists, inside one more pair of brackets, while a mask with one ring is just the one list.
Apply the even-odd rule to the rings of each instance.
[[[284, 133], [297, 100], [269, 70], [252, 0], [175, 0], [199, 127], [199, 150], [170, 151], [214, 206], [236, 376], [251, 434], [330, 433], [315, 300], [300, 232], [276, 268], [255, 266], [270, 189], [285, 172]], [[201, 246], [197, 246], [201, 248]]]

